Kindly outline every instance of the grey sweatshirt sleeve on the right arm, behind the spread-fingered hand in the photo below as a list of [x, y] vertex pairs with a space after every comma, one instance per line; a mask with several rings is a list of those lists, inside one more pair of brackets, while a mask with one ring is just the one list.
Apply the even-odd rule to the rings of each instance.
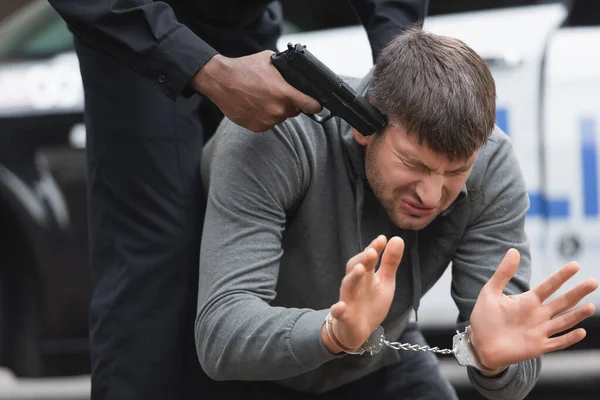
[[[452, 297], [459, 309], [462, 331], [475, 306], [480, 289], [494, 274], [506, 251], [513, 247], [521, 253], [521, 264], [508, 283], [505, 294], [529, 290], [531, 256], [525, 234], [525, 214], [529, 198], [510, 141], [500, 135], [490, 138], [495, 146], [480, 187], [468, 187], [467, 201], [472, 208], [469, 226], [452, 261]], [[487, 378], [470, 368], [469, 379], [477, 390], [491, 400], [520, 400], [534, 387], [541, 360], [511, 365], [498, 377]]]

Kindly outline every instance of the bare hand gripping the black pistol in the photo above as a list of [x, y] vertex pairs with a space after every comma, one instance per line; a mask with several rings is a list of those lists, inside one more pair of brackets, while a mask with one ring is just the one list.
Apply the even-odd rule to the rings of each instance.
[[318, 101], [288, 84], [271, 63], [272, 51], [239, 58], [216, 55], [192, 79], [192, 87], [227, 118], [253, 132], [264, 132], [304, 111], [322, 110]]

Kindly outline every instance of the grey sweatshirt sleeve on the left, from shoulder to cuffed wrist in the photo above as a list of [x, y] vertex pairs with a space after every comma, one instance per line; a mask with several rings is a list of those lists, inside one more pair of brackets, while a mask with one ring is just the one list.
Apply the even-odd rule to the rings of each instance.
[[305, 156], [285, 125], [254, 134], [226, 120], [213, 140], [220, 142], [203, 154], [195, 335], [200, 364], [215, 380], [283, 379], [337, 357], [321, 340], [328, 310], [270, 304], [286, 210], [307, 187]]

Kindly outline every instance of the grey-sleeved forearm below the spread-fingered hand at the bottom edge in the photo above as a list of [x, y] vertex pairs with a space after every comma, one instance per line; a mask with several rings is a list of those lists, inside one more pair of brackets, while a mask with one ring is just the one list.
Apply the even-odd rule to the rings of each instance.
[[524, 361], [509, 366], [497, 377], [485, 377], [468, 368], [469, 380], [477, 391], [490, 400], [521, 400], [535, 386], [541, 371], [541, 360]]

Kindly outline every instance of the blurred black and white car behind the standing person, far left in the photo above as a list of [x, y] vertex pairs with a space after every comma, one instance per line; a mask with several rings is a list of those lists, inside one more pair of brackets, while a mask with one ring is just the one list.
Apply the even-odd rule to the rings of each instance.
[[46, 2], [0, 38], [0, 365], [70, 373], [71, 356], [87, 365], [90, 297], [78, 63]]

